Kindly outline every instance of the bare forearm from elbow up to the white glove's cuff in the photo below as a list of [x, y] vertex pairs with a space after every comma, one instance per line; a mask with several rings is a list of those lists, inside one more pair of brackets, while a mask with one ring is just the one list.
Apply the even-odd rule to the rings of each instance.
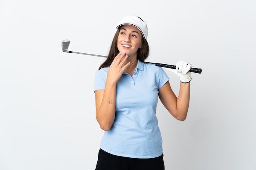
[[180, 82], [180, 92], [177, 98], [179, 120], [185, 120], [189, 110], [190, 83]]

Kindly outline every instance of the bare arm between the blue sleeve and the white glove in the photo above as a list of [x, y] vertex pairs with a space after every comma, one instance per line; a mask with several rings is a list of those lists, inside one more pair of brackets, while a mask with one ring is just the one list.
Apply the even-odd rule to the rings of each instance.
[[177, 120], [186, 120], [189, 110], [190, 83], [180, 82], [180, 92], [175, 96], [169, 81], [159, 89], [159, 98], [164, 107]]

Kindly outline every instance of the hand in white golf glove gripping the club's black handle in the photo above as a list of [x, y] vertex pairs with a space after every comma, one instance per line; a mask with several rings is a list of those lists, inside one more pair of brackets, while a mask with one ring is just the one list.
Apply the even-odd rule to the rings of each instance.
[[179, 76], [180, 81], [182, 83], [189, 83], [192, 79], [191, 72], [189, 72], [191, 67], [192, 65], [187, 63], [186, 61], [179, 61], [176, 63], [176, 69], [171, 69], [171, 68], [166, 68], [166, 69], [170, 70], [171, 72]]

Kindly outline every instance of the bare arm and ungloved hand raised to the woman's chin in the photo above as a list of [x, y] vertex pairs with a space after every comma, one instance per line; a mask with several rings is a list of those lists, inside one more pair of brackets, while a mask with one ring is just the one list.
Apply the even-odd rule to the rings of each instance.
[[95, 91], [96, 119], [104, 131], [108, 131], [115, 120], [116, 85], [122, 73], [130, 64], [124, 65], [127, 57], [125, 53], [119, 53], [115, 57], [108, 70], [105, 89]]

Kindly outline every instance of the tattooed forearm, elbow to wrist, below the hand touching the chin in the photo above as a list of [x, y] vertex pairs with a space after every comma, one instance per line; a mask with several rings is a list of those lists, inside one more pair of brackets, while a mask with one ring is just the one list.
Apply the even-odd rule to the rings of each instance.
[[106, 81], [102, 101], [96, 111], [96, 119], [101, 129], [108, 131], [115, 120], [116, 83]]

